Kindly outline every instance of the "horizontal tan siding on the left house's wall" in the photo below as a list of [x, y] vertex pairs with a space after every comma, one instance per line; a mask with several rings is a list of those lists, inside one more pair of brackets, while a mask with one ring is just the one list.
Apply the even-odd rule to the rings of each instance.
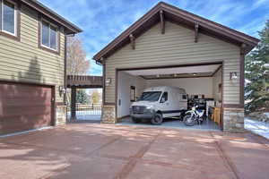
[[[21, 40], [0, 36], [0, 81], [64, 85], [65, 35], [60, 55], [39, 48], [39, 14], [22, 4]], [[56, 102], [63, 102], [56, 90]]]

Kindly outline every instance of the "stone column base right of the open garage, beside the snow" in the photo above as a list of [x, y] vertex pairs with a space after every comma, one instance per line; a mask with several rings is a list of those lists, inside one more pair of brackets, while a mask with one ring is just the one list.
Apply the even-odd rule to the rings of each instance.
[[244, 132], [244, 108], [223, 108], [223, 130]]

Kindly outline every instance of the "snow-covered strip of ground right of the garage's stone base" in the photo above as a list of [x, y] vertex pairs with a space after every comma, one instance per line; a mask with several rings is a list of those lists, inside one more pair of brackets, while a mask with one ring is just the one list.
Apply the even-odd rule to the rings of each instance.
[[245, 129], [251, 132], [255, 132], [258, 135], [264, 136], [269, 140], [269, 123], [245, 118]]

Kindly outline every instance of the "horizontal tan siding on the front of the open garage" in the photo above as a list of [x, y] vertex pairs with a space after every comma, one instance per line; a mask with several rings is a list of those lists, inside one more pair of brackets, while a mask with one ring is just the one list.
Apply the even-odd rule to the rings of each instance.
[[106, 87], [105, 101], [115, 102], [116, 69], [215, 62], [223, 62], [224, 104], [239, 104], [240, 77], [230, 81], [230, 72], [239, 74], [239, 47], [202, 33], [195, 43], [194, 30], [169, 21], [165, 34], [161, 34], [160, 24], [156, 24], [135, 39], [135, 49], [128, 44], [106, 59], [106, 78], [111, 78], [112, 83]]

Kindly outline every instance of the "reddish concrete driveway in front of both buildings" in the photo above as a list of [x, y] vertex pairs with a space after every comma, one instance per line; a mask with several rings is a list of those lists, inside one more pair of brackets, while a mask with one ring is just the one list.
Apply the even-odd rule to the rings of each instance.
[[259, 179], [269, 141], [249, 132], [68, 124], [0, 139], [0, 178]]

